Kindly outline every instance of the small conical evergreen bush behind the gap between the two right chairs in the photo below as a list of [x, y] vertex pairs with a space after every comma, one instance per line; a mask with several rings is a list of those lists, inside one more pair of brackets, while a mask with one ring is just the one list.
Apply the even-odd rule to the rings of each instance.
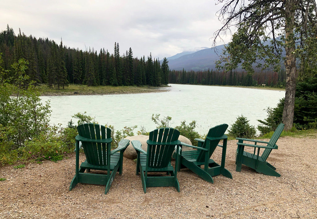
[[236, 119], [236, 122], [229, 129], [229, 135], [238, 138], [253, 138], [256, 134], [256, 129], [249, 124], [249, 120], [243, 115], [238, 116]]

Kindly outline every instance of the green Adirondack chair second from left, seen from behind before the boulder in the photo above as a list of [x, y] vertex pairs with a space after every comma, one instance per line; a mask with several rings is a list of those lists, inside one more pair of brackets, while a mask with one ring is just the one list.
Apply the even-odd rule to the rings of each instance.
[[[149, 140], [146, 141], [147, 152], [141, 148], [141, 142], [131, 141], [138, 155], [136, 174], [141, 174], [144, 193], [146, 193], [146, 187], [161, 186], [174, 186], [179, 192], [178, 167], [175, 167], [174, 171], [171, 166], [174, 148], [179, 148], [180, 144], [178, 136], [179, 131], [174, 128], [155, 129], [150, 132]], [[148, 176], [148, 172], [166, 172], [167, 176]]]

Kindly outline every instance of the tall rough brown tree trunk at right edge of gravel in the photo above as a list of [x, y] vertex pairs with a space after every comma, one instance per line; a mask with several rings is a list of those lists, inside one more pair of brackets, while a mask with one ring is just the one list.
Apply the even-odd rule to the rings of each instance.
[[285, 3], [285, 68], [286, 68], [286, 92], [282, 122], [284, 130], [290, 130], [294, 120], [294, 104], [296, 89], [296, 56], [294, 40], [295, 0], [286, 0]]

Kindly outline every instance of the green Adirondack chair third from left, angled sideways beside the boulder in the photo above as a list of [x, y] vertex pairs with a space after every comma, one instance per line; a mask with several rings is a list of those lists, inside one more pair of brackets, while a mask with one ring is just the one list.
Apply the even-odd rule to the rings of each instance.
[[[181, 156], [179, 159], [180, 165], [178, 166], [180, 168], [189, 168], [192, 172], [210, 183], [214, 182], [212, 179], [213, 176], [220, 174], [232, 179], [231, 173], [224, 168], [228, 138], [224, 133], [227, 128], [227, 124], [221, 124], [210, 128], [205, 140], [195, 139], [198, 141], [198, 147], [181, 142], [181, 147], [187, 146], [196, 148], [197, 150], [176, 150]], [[223, 140], [223, 145], [219, 145], [220, 140]], [[210, 159], [217, 146], [222, 147], [221, 165]], [[174, 156], [178, 153], [174, 153]], [[204, 169], [201, 168], [201, 165], [204, 165]]]

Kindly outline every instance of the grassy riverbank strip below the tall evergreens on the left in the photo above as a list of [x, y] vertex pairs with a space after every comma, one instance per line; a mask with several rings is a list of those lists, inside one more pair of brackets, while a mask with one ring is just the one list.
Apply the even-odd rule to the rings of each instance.
[[134, 94], [134, 93], [154, 93], [165, 92], [169, 86], [162, 87], [137, 87], [137, 86], [95, 86], [69, 84], [65, 89], [50, 89], [46, 84], [37, 86], [41, 96], [71, 96], [71, 95], [107, 95], [107, 94]]

